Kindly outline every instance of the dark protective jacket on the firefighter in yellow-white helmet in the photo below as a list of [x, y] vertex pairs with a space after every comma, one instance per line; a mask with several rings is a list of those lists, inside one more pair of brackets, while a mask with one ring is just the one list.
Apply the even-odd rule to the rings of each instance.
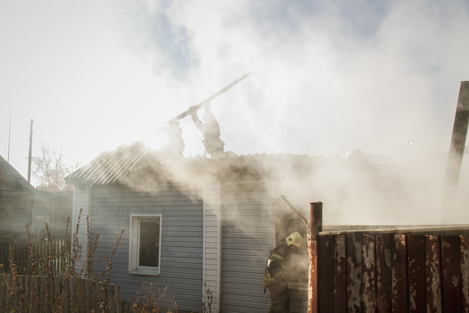
[[268, 286], [271, 283], [287, 283], [286, 264], [290, 258], [290, 247], [284, 240], [270, 252], [267, 268], [262, 278], [262, 286]]

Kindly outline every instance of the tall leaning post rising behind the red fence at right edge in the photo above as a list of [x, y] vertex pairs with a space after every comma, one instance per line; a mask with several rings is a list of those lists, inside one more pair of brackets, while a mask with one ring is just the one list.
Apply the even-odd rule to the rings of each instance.
[[443, 212], [441, 220], [444, 224], [453, 221], [454, 201], [458, 189], [461, 172], [462, 156], [466, 144], [469, 123], [469, 81], [462, 81], [459, 89], [456, 115], [454, 116], [453, 134], [449, 148], [448, 164], [446, 165], [445, 185], [443, 187]]

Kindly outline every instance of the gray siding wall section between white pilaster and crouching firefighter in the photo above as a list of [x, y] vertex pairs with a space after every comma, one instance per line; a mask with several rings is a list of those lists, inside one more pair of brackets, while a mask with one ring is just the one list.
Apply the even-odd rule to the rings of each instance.
[[272, 194], [225, 192], [222, 196], [221, 312], [265, 313], [270, 295], [262, 276], [273, 248]]

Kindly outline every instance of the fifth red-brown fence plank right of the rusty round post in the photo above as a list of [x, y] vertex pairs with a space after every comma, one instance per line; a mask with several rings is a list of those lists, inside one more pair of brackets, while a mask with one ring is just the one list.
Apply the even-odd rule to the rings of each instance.
[[378, 313], [391, 312], [393, 235], [376, 235], [376, 282]]

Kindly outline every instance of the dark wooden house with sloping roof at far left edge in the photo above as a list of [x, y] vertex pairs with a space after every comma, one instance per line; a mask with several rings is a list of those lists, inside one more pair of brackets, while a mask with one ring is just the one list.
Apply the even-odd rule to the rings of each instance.
[[26, 224], [37, 240], [45, 235], [45, 222], [53, 238], [63, 238], [67, 217], [72, 215], [72, 197], [70, 191], [34, 188], [0, 156], [0, 242], [8, 242], [12, 235], [16, 242], [26, 241]]

